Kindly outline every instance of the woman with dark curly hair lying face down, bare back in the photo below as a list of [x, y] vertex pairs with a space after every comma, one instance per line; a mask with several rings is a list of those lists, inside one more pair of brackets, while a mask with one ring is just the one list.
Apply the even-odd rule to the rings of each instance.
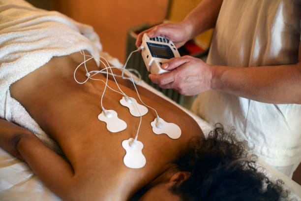
[[[281, 188], [246, 160], [243, 143], [232, 141], [220, 128], [205, 139], [189, 115], [142, 87], [138, 87], [142, 100], [165, 121], [177, 124], [181, 137], [154, 134], [150, 123], [155, 114], [149, 111], [138, 137], [147, 163], [139, 169], [126, 167], [121, 142], [135, 136], [139, 119], [120, 105], [122, 95], [108, 90], [104, 106], [114, 108], [128, 127], [114, 134], [106, 129], [97, 119], [104, 85], [97, 80], [84, 85], [74, 81], [74, 69], [82, 61], [80, 53], [55, 57], [10, 87], [11, 96], [58, 142], [66, 160], [29, 130], [0, 119], [0, 147], [28, 163], [62, 200], [280, 200]], [[94, 62], [87, 68], [98, 69]], [[85, 74], [79, 69], [78, 80], [85, 80]], [[124, 93], [138, 100], [130, 81], [119, 83]], [[108, 84], [118, 90], [112, 79]]]

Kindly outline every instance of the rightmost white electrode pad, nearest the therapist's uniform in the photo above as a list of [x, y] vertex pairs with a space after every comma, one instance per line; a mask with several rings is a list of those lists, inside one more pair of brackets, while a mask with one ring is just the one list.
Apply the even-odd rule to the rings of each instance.
[[181, 136], [181, 129], [177, 124], [168, 123], [162, 118], [157, 118], [151, 122], [152, 131], [155, 134], [167, 134], [172, 139], [178, 139]]

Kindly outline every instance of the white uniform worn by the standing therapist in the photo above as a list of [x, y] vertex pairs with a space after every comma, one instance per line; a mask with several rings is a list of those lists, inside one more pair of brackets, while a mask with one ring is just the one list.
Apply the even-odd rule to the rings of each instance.
[[[224, 0], [207, 63], [297, 64], [300, 26], [301, 0]], [[290, 177], [301, 161], [301, 104], [268, 104], [207, 91], [192, 111], [212, 124], [234, 126], [239, 138], [254, 145], [255, 154]]]

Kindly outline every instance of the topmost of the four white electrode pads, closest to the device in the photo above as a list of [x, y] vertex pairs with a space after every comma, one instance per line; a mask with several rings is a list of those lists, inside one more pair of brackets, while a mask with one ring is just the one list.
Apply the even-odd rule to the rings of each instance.
[[[146, 113], [148, 113], [148, 108], [144, 105], [141, 105], [137, 102], [136, 99], [132, 98], [132, 97], [122, 97], [122, 99], [120, 100], [120, 104], [122, 104], [123, 106], [128, 107], [128, 109], [130, 110], [131, 115], [135, 116], [135, 117], [140, 117], [145, 115]], [[140, 112], [138, 112], [137, 108]]]

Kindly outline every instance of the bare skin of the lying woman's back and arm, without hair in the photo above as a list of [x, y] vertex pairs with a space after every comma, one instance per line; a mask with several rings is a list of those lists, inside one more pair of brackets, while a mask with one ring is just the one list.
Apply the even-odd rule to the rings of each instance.
[[[26, 161], [40, 180], [64, 201], [124, 201], [143, 186], [159, 181], [158, 175], [171, 178], [174, 171], [170, 162], [185, 152], [191, 137], [204, 137], [197, 123], [172, 103], [138, 87], [141, 99], [154, 107], [165, 121], [179, 125], [182, 135], [174, 140], [166, 134], [153, 134], [150, 123], [155, 114], [149, 110], [142, 117], [138, 136], [144, 144], [142, 151], [147, 164], [140, 169], [125, 167], [121, 142], [135, 136], [140, 118], [131, 116], [128, 108], [120, 105], [122, 95], [107, 89], [104, 107], [117, 111], [118, 117], [127, 123], [127, 129], [122, 132], [108, 132], [106, 124], [97, 119], [104, 84], [89, 80], [80, 85], [73, 78], [75, 67], [82, 61], [80, 53], [53, 58], [10, 87], [11, 96], [60, 144], [67, 161], [30, 131], [5, 120], [0, 120], [0, 147]], [[92, 60], [87, 67], [98, 69]], [[85, 74], [82, 67], [76, 77], [85, 80]], [[103, 75], [94, 78], [105, 80]], [[138, 100], [129, 81], [119, 83], [122, 91]], [[118, 90], [112, 80], [108, 84]], [[150, 187], [158, 184], [154, 182]]]

